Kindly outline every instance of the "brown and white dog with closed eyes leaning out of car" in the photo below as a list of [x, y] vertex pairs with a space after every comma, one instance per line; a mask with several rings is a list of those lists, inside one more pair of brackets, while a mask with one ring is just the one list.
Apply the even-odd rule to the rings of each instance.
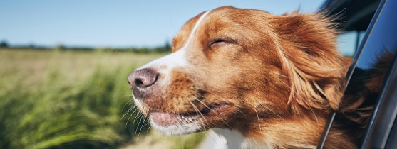
[[[321, 13], [202, 12], [175, 35], [170, 55], [128, 77], [133, 99], [167, 135], [213, 129], [228, 148], [316, 148], [351, 62], [336, 50], [334, 27]], [[341, 125], [325, 148], [357, 148]]]

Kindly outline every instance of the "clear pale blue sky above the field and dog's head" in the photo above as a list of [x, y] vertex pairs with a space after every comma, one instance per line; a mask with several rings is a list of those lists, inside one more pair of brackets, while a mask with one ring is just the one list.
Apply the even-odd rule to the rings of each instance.
[[164, 45], [198, 13], [218, 6], [282, 14], [319, 9], [324, 0], [0, 1], [0, 40], [11, 45], [142, 47]]

